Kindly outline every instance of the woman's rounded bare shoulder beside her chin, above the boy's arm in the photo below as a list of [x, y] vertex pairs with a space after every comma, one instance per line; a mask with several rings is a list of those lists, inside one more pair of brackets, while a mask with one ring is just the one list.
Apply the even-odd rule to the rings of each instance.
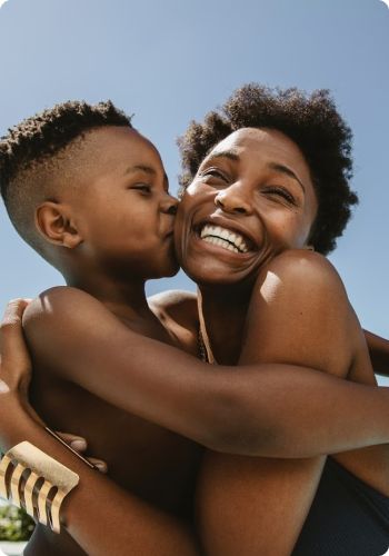
[[308, 250], [282, 252], [261, 269], [247, 330], [247, 344], [251, 351], [260, 346], [263, 360], [337, 376], [349, 371], [361, 337], [338, 272]]

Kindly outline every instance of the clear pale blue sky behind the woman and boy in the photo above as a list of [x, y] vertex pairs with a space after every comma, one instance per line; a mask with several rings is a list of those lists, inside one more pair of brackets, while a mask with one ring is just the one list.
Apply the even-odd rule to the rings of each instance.
[[[249, 81], [328, 88], [355, 133], [360, 205], [330, 259], [362, 325], [389, 336], [389, 9], [381, 0], [0, 1], [0, 133], [68, 99], [112, 99], [162, 153]], [[62, 284], [0, 208], [0, 306]], [[182, 276], [149, 290], [192, 288]]]

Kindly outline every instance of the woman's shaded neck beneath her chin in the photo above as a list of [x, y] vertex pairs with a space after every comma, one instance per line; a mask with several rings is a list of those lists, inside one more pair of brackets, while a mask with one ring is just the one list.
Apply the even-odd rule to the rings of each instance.
[[243, 340], [251, 290], [201, 287], [202, 312], [211, 349], [220, 365], [236, 365]]

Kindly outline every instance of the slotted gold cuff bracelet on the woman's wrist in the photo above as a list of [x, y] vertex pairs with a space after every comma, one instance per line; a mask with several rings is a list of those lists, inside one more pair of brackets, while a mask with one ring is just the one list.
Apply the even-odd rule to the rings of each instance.
[[[22, 484], [24, 471], [29, 475]], [[37, 483], [42, 479], [37, 489]], [[42, 525], [49, 523], [54, 533], [61, 530], [62, 502], [79, 480], [77, 473], [28, 441], [13, 446], [0, 463], [0, 496], [18, 507], [22, 507], [23, 500], [26, 512]], [[38, 496], [36, 507], [33, 496]]]

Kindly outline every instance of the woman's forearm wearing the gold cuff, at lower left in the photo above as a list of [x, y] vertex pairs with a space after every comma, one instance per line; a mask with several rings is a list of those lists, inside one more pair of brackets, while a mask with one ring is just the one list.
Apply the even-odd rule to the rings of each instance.
[[0, 444], [4, 451], [27, 439], [80, 476], [80, 484], [69, 495], [61, 515], [68, 532], [87, 554], [106, 556], [127, 554], [129, 549], [133, 554], [164, 556], [199, 554], [194, 534], [184, 522], [89, 469], [32, 421], [16, 401], [1, 399], [1, 403], [0, 415], [4, 418], [1, 418]]

